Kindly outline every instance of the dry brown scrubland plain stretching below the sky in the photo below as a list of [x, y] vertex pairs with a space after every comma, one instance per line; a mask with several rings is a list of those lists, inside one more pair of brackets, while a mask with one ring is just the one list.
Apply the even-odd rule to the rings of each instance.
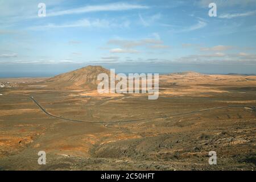
[[[101, 67], [54, 78], [0, 80], [0, 169], [256, 169], [256, 76], [162, 75], [158, 100], [93, 90]], [[82, 82], [84, 79], [86, 82]], [[9, 82], [11, 81], [11, 82]], [[9, 87], [8, 87], [9, 86]], [[77, 120], [69, 122], [43, 113]], [[221, 106], [210, 110], [134, 122]], [[47, 164], [37, 162], [40, 150]], [[208, 152], [217, 152], [217, 165]]]

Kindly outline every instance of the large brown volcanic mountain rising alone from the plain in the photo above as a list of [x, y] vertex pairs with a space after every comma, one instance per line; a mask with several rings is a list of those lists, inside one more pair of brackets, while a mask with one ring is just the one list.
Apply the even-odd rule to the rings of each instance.
[[101, 66], [92, 66], [76, 69], [75, 71], [63, 73], [46, 80], [46, 84], [58, 89], [97, 89], [97, 76], [110, 71]]

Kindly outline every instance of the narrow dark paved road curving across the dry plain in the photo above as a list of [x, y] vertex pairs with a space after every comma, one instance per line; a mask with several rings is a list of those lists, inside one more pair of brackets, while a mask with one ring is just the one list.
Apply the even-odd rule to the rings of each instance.
[[187, 114], [195, 114], [195, 113], [201, 113], [201, 112], [205, 112], [205, 111], [210, 111], [210, 110], [217, 110], [217, 109], [225, 109], [225, 108], [234, 108], [234, 107], [249, 107], [250, 109], [253, 109], [254, 111], [256, 111], [255, 106], [246, 106], [246, 105], [237, 105], [237, 106], [223, 106], [223, 107], [213, 107], [213, 108], [209, 108], [209, 109], [203, 109], [203, 110], [196, 110], [196, 111], [191, 111], [188, 113], [179, 113], [179, 114], [171, 114], [171, 115], [162, 115], [159, 117], [152, 117], [152, 118], [141, 118], [141, 119], [130, 119], [130, 120], [121, 120], [121, 121], [90, 121], [90, 120], [76, 120], [76, 119], [68, 119], [68, 118], [62, 118], [53, 114], [48, 113], [48, 111], [46, 111], [46, 109], [44, 109], [35, 99], [34, 97], [30, 97], [32, 101], [35, 102], [35, 104], [47, 115], [53, 117], [53, 118], [57, 118], [57, 119], [63, 119], [65, 121], [71, 121], [71, 122], [89, 122], [89, 123], [125, 123], [125, 122], [135, 122], [135, 121], [144, 121], [144, 120], [150, 120], [150, 119], [159, 119], [159, 118], [168, 118], [168, 117], [175, 117], [175, 116], [179, 116], [179, 115], [187, 115]]

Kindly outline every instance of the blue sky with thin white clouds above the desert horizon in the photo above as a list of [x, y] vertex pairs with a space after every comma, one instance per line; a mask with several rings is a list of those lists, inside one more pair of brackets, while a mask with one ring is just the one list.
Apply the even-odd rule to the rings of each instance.
[[[209, 16], [216, 3], [217, 16]], [[39, 3], [46, 16], [39, 16]], [[86, 65], [256, 74], [256, 0], [0, 0], [0, 77]]]

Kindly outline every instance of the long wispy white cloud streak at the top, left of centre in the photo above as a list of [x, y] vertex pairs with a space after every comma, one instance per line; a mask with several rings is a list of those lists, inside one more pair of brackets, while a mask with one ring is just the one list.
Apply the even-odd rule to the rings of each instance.
[[98, 12], [98, 11], [125, 11], [125, 10], [148, 9], [148, 8], [150, 7], [118, 2], [118, 3], [109, 3], [105, 5], [92, 5], [92, 6], [79, 7], [76, 9], [55, 11], [52, 13], [48, 13], [47, 16], [82, 14], [82, 13], [90, 13], [90, 12]]

